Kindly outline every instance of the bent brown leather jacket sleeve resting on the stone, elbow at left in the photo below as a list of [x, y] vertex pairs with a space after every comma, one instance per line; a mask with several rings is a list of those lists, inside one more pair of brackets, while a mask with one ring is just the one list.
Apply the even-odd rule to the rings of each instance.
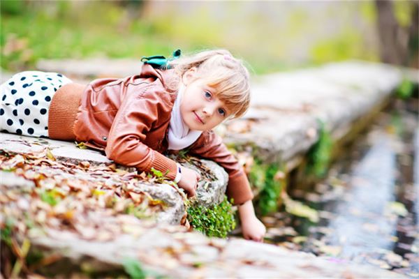
[[147, 93], [146, 86], [135, 98], [124, 98], [110, 128], [105, 153], [116, 163], [149, 172], [152, 167], [168, 179], [175, 179], [177, 167], [173, 160], [143, 144], [147, 132], [154, 126], [162, 110], [158, 94]]

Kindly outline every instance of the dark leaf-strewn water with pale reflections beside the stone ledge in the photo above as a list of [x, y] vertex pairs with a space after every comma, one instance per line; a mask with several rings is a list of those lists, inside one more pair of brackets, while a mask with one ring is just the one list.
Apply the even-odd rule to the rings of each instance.
[[414, 104], [417, 99], [413, 105], [395, 102], [332, 166], [328, 179], [309, 193], [291, 193], [318, 210], [318, 223], [287, 213], [263, 218], [271, 241], [419, 278], [419, 136]]

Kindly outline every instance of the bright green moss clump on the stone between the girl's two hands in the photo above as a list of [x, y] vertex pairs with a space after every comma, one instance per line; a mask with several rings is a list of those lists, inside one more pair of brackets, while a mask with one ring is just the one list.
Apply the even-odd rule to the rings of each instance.
[[225, 238], [235, 228], [235, 212], [227, 197], [209, 207], [189, 204], [188, 220], [191, 226], [207, 236]]

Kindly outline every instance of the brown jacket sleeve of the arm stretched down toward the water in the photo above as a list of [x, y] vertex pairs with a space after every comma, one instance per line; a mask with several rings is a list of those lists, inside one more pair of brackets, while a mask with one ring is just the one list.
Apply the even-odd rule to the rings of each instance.
[[233, 154], [228, 151], [223, 140], [213, 131], [204, 132], [190, 148], [191, 155], [213, 160], [226, 169], [228, 173], [228, 186], [226, 195], [228, 199], [233, 198], [234, 204], [243, 204], [253, 199], [249, 180], [242, 166], [238, 163]]

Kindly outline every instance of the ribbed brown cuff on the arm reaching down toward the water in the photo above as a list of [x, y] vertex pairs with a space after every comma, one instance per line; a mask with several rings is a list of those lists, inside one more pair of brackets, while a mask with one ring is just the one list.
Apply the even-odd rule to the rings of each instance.
[[228, 200], [233, 198], [233, 204], [243, 204], [253, 199], [249, 180], [243, 170], [236, 172], [228, 177], [228, 186], [226, 195]]

